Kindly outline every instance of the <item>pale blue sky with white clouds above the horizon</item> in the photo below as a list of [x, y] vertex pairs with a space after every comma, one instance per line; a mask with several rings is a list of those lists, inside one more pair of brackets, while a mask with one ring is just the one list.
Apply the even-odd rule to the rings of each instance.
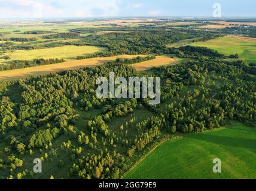
[[256, 17], [255, 0], [0, 0], [0, 18]]

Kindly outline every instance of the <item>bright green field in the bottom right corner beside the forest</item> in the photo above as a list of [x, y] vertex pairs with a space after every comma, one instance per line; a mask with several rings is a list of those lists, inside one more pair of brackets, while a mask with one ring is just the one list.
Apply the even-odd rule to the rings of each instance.
[[[212, 172], [213, 159], [222, 172]], [[256, 130], [244, 125], [161, 144], [125, 178], [256, 178]]]

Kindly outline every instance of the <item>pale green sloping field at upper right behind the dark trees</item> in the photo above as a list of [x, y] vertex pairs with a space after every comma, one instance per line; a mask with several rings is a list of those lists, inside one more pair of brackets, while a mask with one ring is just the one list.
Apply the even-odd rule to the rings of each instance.
[[248, 63], [256, 62], [256, 38], [226, 36], [211, 41], [197, 42], [191, 45], [212, 48], [225, 54], [225, 56], [237, 53], [242, 60], [245, 60]]

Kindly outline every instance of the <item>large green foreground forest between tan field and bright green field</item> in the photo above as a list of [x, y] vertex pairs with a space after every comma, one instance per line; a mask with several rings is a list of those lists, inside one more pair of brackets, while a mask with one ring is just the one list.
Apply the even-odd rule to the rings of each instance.
[[[65, 178], [121, 178], [134, 155], [166, 134], [203, 132], [228, 121], [255, 127], [255, 67], [207, 54], [196, 51], [200, 60], [155, 69], [163, 83], [158, 106], [95, 97], [97, 76], [139, 76], [121, 62], [2, 82], [2, 177], [36, 177], [26, 168], [40, 156], [60, 159], [57, 168], [68, 167]], [[136, 110], [151, 114], [130, 118]], [[109, 125], [115, 120], [120, 127]]]

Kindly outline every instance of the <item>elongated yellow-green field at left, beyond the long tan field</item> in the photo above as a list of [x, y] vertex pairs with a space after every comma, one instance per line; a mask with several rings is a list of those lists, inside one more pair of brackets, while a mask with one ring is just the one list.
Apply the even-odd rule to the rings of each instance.
[[[86, 54], [97, 53], [106, 51], [106, 48], [94, 47], [94, 46], [65, 46], [55, 48], [44, 48], [38, 50], [17, 50], [2, 56], [10, 56], [10, 60], [33, 60], [36, 58], [65, 58], [71, 59], [77, 56], [84, 56]], [[1, 60], [0, 60], [1, 61]]]

